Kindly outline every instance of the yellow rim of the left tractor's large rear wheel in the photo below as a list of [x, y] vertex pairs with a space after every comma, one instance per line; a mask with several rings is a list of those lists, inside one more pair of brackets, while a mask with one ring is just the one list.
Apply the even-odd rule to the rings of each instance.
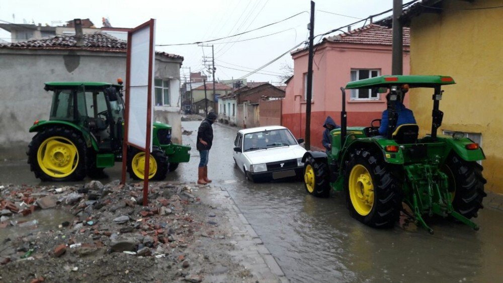
[[37, 161], [47, 175], [63, 178], [75, 171], [78, 165], [77, 147], [67, 138], [50, 137], [39, 146]]

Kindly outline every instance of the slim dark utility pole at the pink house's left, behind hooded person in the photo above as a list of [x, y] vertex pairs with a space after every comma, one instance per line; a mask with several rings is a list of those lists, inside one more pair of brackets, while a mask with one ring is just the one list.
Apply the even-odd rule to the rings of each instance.
[[314, 2], [311, 1], [311, 20], [309, 21], [309, 57], [307, 61], [307, 89], [306, 89], [306, 150], [311, 149], [311, 100], [313, 85], [313, 40], [314, 40]]

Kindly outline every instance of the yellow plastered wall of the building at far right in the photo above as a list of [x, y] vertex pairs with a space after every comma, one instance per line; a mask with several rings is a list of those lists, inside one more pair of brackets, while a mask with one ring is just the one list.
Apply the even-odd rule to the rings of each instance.
[[[441, 14], [412, 18], [410, 74], [450, 75], [440, 110], [442, 130], [481, 133], [486, 190], [503, 193], [503, 0], [443, 2]], [[431, 131], [433, 90], [411, 91], [422, 134]]]

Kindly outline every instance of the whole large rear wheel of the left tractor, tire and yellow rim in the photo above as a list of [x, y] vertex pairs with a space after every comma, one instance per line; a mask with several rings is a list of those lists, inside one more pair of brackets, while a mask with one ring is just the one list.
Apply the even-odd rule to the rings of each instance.
[[49, 127], [28, 145], [28, 163], [43, 181], [78, 181], [86, 177], [86, 142], [79, 132]]

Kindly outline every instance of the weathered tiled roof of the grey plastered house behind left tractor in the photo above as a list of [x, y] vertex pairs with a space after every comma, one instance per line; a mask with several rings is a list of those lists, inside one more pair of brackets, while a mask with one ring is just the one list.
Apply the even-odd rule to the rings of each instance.
[[[95, 33], [83, 35], [84, 45], [76, 46], [75, 36], [55, 36], [46, 39], [34, 39], [23, 42], [0, 44], [0, 48], [9, 49], [47, 49], [47, 50], [89, 50], [105, 52], [126, 52], [127, 42], [108, 34]], [[184, 59], [183, 56], [165, 52], [155, 52], [158, 55], [173, 59]]]

